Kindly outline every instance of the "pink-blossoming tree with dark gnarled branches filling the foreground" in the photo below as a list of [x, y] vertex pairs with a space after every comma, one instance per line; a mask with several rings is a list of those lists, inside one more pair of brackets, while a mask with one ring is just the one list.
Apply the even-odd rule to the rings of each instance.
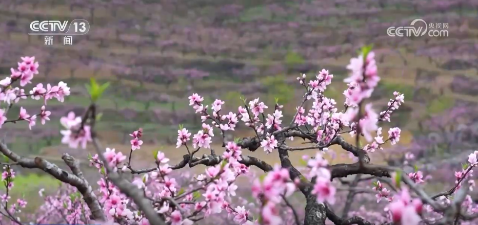
[[[244, 105], [239, 106], [236, 113], [223, 113], [224, 101], [216, 99], [209, 109], [208, 105], [203, 104], [203, 97], [193, 94], [189, 97], [189, 105], [201, 115], [203, 125], [202, 130], [195, 134], [182, 126], [177, 131], [177, 148], [187, 152], [183, 160], [170, 162], [163, 152], [157, 151], [154, 154], [156, 166], [141, 169], [131, 166], [132, 153], [141, 151], [143, 144], [141, 128], [130, 134], [132, 140], [129, 155], [116, 152], [115, 149], [105, 149], [97, 140], [94, 129], [97, 106], [94, 102], [101, 96], [107, 84], [99, 85], [92, 80], [88, 88], [91, 105], [82, 117], [70, 113], [68, 117], [62, 118], [61, 123], [67, 129], [61, 133], [64, 136], [62, 142], [70, 147], [81, 145], [86, 148], [87, 143], [94, 146], [97, 154], [89, 155], [89, 161], [102, 175], [97, 181], [99, 188], [93, 190], [79, 170], [78, 162], [71, 155], [62, 156], [70, 168], [70, 171], [66, 171], [41, 157], [29, 159], [20, 156], [15, 153], [15, 149], [9, 149], [0, 143], [0, 151], [4, 154], [5, 161], [2, 163], [2, 179], [6, 187], [0, 199], [2, 224], [23, 224], [18, 214], [27, 205], [28, 199], [14, 200], [10, 196], [10, 190], [14, 188], [15, 166], [44, 170], [67, 184], [66, 189], [45, 196], [44, 204], [32, 219], [34, 223], [189, 225], [225, 211], [237, 224], [279, 225], [286, 224], [284, 215], [281, 215], [279, 210], [280, 205], [285, 203], [293, 212], [286, 215], [291, 218], [287, 221], [297, 225], [330, 222], [340, 225], [377, 224], [378, 220], [367, 220], [360, 216], [348, 217], [348, 210], [344, 210], [343, 216], [338, 216], [332, 208], [337, 192], [337, 179], [367, 175], [378, 179], [370, 190], [375, 194], [377, 202], [389, 202], [382, 214], [382, 224], [476, 224], [474, 219], [478, 214], [474, 211], [477, 208], [468, 191], [474, 186], [470, 176], [473, 167], [478, 165], [478, 152], [469, 155], [463, 171], [455, 172], [454, 187], [435, 195], [429, 195], [423, 190], [421, 183], [424, 180], [420, 170], [406, 174], [402, 168], [372, 164], [369, 154], [386, 151], [382, 148], [384, 143], [390, 142], [394, 145], [400, 141], [400, 128], [390, 128], [385, 138], [380, 126], [390, 122], [393, 111], [404, 102], [404, 95], [393, 93], [387, 109], [380, 114], [375, 113], [371, 103], [365, 103], [380, 81], [371, 47], [364, 47], [358, 57], [350, 60], [347, 69], [350, 71], [350, 77], [345, 79], [348, 88], [344, 92], [344, 110], [339, 111], [336, 102], [323, 95], [332, 82], [333, 75], [322, 70], [311, 80], [307, 80], [305, 74], [297, 78], [298, 83], [304, 87], [305, 94], [290, 122], [283, 121], [283, 106], [278, 103], [269, 109], [259, 99], [249, 102], [244, 99]], [[0, 99], [5, 105], [4, 109], [0, 109], [0, 125], [28, 123], [31, 129], [36, 125], [37, 119], [45, 124], [50, 115], [46, 107], [47, 101], [57, 99], [63, 102], [65, 96], [70, 94], [69, 87], [64, 82], [54, 86], [37, 84], [29, 94], [22, 89], [38, 74], [38, 62], [34, 57], [22, 57], [18, 68], [11, 69], [11, 72], [10, 77], [0, 81]], [[19, 83], [19, 87], [14, 87], [15, 83]], [[21, 108], [18, 116], [8, 115], [13, 104], [27, 97], [44, 101], [45, 105], [39, 113], [31, 114]], [[306, 101], [313, 103], [308, 110], [305, 108]], [[271, 113], [268, 114], [267, 110]], [[240, 121], [253, 129], [255, 136], [234, 142], [223, 141], [222, 146], [226, 151], [222, 155], [217, 155], [212, 149], [210, 154], [195, 155], [200, 149], [211, 148], [214, 130], [219, 131], [222, 140], [225, 140], [225, 133], [234, 131]], [[355, 143], [347, 143], [342, 137], [343, 134], [355, 137]], [[365, 146], [361, 146], [361, 136], [368, 142]], [[290, 147], [287, 141], [293, 138], [302, 138], [310, 144]], [[323, 158], [322, 152], [333, 145], [350, 152], [358, 161], [330, 165]], [[243, 154], [242, 149], [261, 149], [267, 153], [278, 154], [281, 164], [269, 165], [261, 159]], [[314, 152], [313, 157], [304, 158], [307, 160], [308, 170], [299, 171], [294, 167], [289, 160], [289, 151]], [[194, 177], [188, 188], [180, 187], [172, 171], [197, 165], [207, 166], [204, 174]], [[254, 209], [248, 209], [249, 205], [236, 205], [233, 201], [233, 198], [237, 197], [236, 178], [249, 173], [250, 167], [257, 167], [265, 172], [250, 188], [259, 203]], [[128, 174], [136, 176], [131, 181], [127, 178]], [[360, 178], [355, 178], [351, 186], [358, 182]], [[293, 209], [289, 204], [288, 198], [294, 192], [305, 196], [305, 209]], [[350, 198], [347, 197], [347, 202], [349, 201]], [[303, 212], [304, 219], [299, 218], [299, 211]]]

